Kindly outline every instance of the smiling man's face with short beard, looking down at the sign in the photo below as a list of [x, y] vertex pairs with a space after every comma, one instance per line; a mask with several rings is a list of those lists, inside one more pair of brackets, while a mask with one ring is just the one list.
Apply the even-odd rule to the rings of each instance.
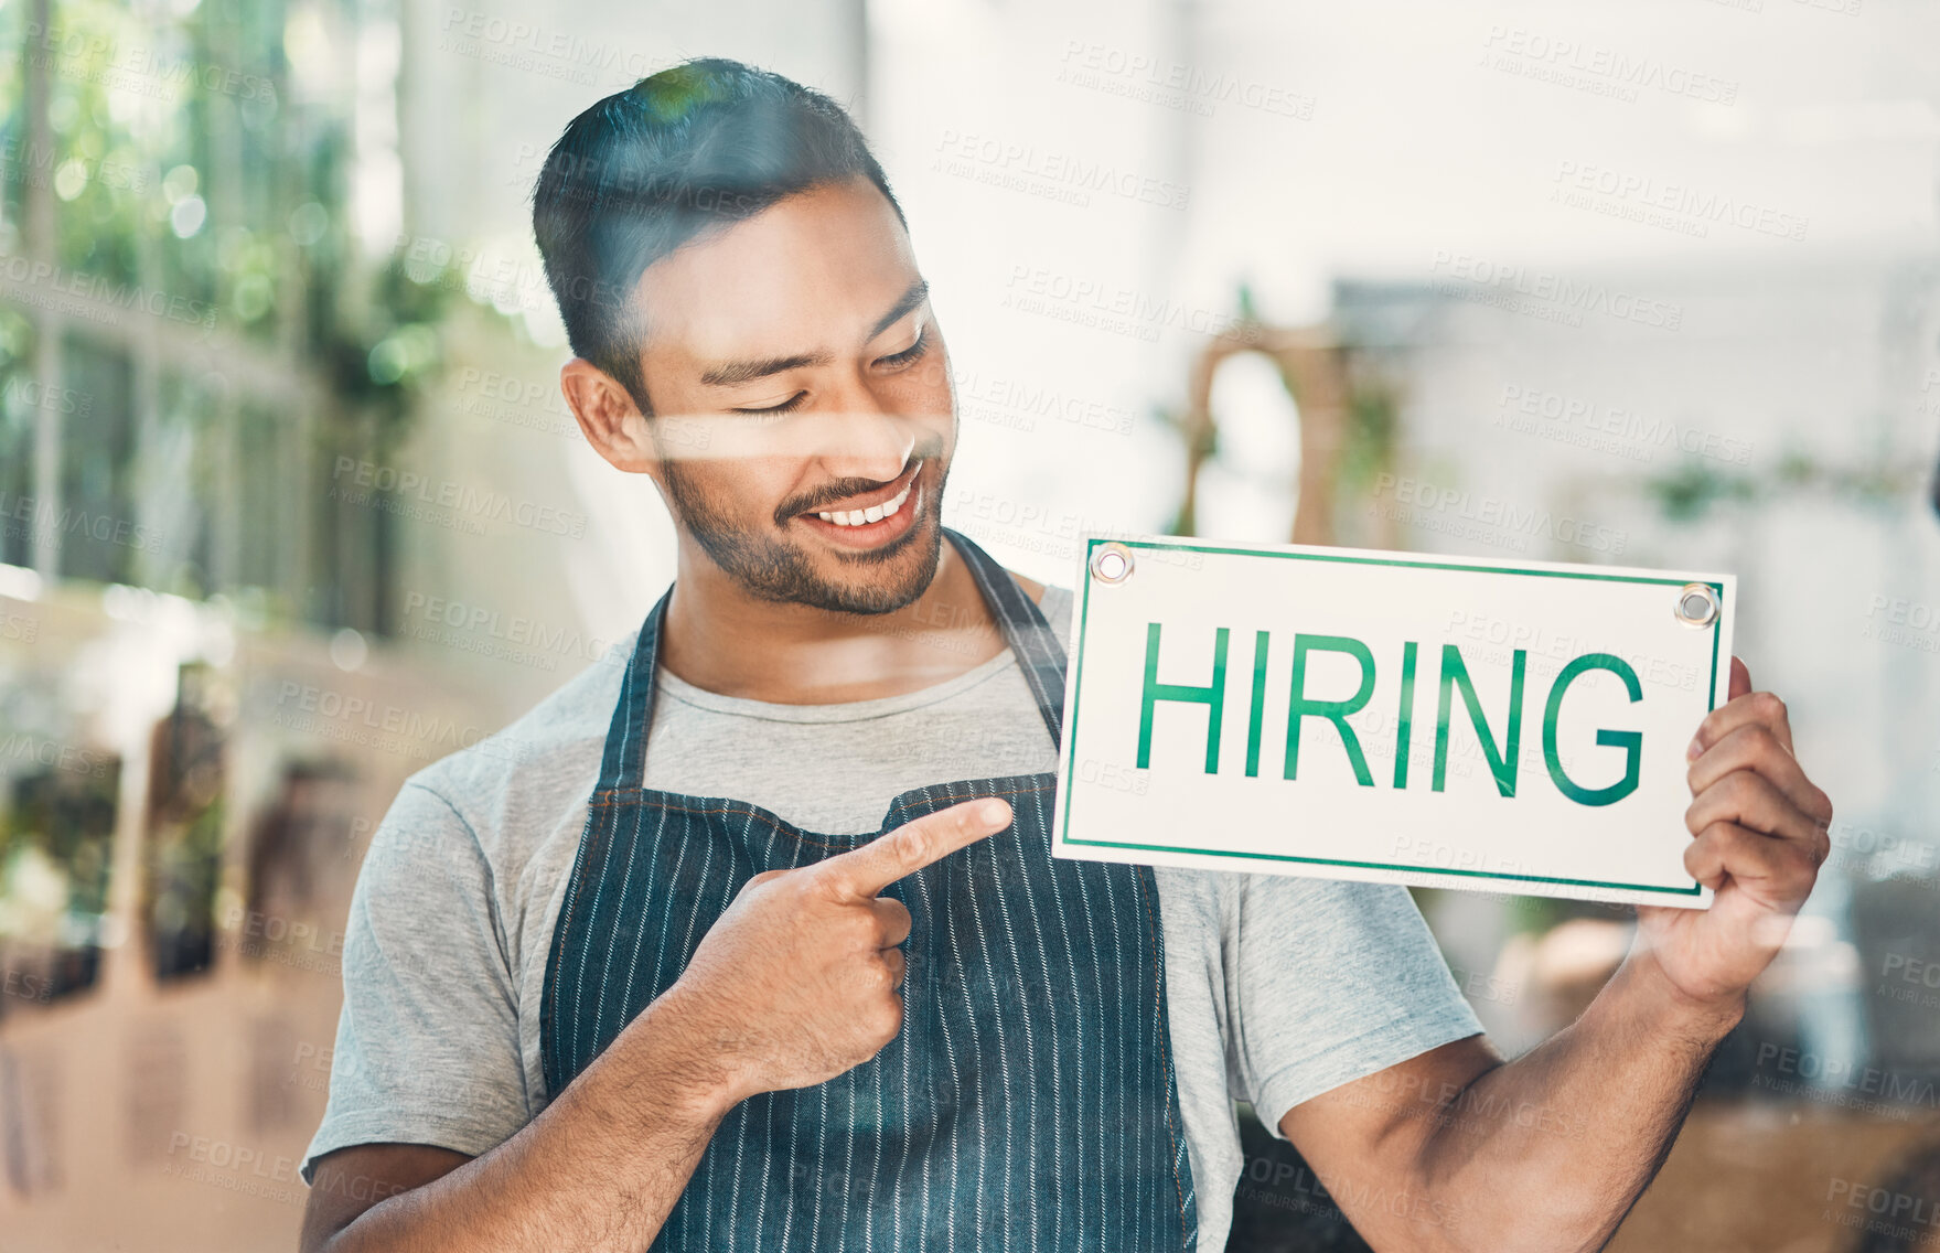
[[922, 595], [956, 405], [889, 200], [867, 178], [788, 196], [648, 266], [636, 299], [677, 526], [762, 599], [889, 613]]

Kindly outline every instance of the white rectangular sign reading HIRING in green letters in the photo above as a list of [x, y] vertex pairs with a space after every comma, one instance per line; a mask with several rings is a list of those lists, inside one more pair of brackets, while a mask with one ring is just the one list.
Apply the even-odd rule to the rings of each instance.
[[1053, 853], [1709, 908], [1736, 578], [1086, 535]]

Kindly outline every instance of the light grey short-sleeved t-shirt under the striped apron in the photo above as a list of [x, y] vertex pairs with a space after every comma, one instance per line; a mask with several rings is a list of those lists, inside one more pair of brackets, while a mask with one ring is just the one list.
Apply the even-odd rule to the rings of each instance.
[[[1071, 590], [1046, 588], [1042, 609], [1069, 640]], [[477, 1156], [545, 1108], [545, 954], [636, 638], [398, 793], [351, 898], [330, 1104], [305, 1181], [349, 1144]], [[890, 799], [925, 784], [1057, 770], [1009, 650], [881, 700], [741, 700], [665, 669], [656, 691], [648, 787], [729, 795], [807, 830], [877, 830]], [[1401, 886], [1154, 875], [1199, 1249], [1214, 1253], [1242, 1172], [1232, 1098], [1278, 1135], [1300, 1102], [1482, 1026]]]

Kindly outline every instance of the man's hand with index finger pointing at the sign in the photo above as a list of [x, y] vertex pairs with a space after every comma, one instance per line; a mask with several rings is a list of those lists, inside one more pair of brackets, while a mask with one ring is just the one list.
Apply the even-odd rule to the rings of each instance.
[[1011, 824], [1011, 805], [962, 801], [815, 865], [762, 871], [700, 939], [660, 999], [681, 1007], [724, 1098], [826, 1082], [902, 1030], [910, 910], [877, 896]]

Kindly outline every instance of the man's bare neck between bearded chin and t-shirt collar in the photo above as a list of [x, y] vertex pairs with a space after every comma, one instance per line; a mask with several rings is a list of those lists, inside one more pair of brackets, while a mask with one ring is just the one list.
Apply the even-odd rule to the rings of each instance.
[[[1042, 599], [1042, 584], [1018, 582]], [[1007, 648], [970, 566], [949, 541], [920, 597], [869, 615], [747, 595], [683, 535], [660, 661], [722, 696], [842, 704], [945, 683]]]

